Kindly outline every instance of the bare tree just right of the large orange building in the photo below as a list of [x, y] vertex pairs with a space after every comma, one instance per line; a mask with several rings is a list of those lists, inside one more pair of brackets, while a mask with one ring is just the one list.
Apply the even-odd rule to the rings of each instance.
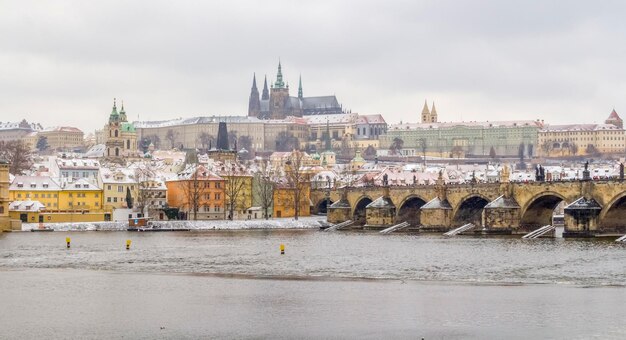
[[226, 195], [226, 209], [228, 210], [227, 218], [232, 220], [235, 217], [235, 210], [249, 208], [245, 206], [245, 193], [246, 186], [252, 184], [251, 178], [237, 163], [226, 164], [220, 176], [226, 180], [224, 193]]

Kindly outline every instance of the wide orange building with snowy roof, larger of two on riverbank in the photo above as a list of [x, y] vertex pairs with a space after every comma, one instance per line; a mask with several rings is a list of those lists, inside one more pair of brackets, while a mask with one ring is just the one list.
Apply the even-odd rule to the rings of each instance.
[[224, 179], [204, 166], [188, 166], [165, 185], [167, 205], [179, 208], [188, 220], [224, 219]]

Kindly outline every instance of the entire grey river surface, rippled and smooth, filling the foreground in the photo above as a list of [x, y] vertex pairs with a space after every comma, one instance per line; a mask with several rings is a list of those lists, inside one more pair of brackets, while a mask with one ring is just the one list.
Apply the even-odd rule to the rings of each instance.
[[5, 233], [0, 338], [624, 339], [625, 284], [612, 240]]

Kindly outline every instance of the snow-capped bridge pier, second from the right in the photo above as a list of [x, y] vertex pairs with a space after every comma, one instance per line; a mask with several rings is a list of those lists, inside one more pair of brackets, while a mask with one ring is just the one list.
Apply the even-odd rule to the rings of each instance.
[[511, 234], [521, 220], [520, 206], [512, 197], [504, 195], [489, 202], [483, 210], [484, 231], [489, 234]]

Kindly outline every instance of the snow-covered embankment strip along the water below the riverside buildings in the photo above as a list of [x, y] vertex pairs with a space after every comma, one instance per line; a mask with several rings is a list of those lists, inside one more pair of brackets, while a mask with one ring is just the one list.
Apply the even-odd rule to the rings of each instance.
[[[271, 220], [237, 220], [237, 221], [154, 221], [152, 224], [160, 228], [184, 228], [191, 230], [236, 230], [236, 229], [306, 229], [319, 228], [317, 221], [324, 221], [324, 216], [293, 218], [274, 218]], [[126, 230], [128, 222], [76, 222], [76, 223], [45, 223], [44, 227], [55, 231], [115, 231]], [[40, 228], [39, 223], [22, 224], [23, 231]]]

